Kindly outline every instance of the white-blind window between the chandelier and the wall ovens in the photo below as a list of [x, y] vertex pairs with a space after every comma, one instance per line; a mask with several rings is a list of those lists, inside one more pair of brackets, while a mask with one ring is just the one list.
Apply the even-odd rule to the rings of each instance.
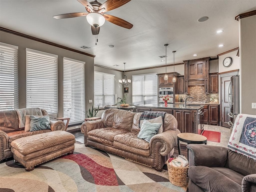
[[157, 74], [132, 76], [132, 104], [157, 104]]

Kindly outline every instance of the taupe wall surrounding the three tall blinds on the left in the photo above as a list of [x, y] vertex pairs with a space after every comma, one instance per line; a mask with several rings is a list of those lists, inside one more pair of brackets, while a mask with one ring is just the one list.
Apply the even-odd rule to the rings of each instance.
[[58, 55], [58, 116], [63, 116], [63, 57], [86, 62], [86, 110], [94, 98], [94, 58], [0, 31], [0, 42], [18, 46], [19, 108], [26, 108], [26, 48]]

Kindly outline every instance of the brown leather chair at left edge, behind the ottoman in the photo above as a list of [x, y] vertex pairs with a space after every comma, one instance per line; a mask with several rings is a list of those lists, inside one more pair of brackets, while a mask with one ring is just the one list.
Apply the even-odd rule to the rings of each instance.
[[[48, 115], [48, 112], [41, 109], [42, 115]], [[19, 128], [19, 118], [16, 110], [0, 111], [0, 162], [13, 156], [11, 152], [11, 142], [18, 138], [36, 135], [56, 130], [65, 130], [65, 124], [62, 121], [50, 121], [50, 128], [33, 132], [24, 132], [24, 128]]]

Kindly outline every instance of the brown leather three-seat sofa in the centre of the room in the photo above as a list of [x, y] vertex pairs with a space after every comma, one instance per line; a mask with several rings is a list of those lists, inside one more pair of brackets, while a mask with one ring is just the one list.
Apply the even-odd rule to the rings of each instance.
[[177, 134], [180, 133], [177, 120], [171, 114], [165, 114], [163, 132], [153, 136], [148, 143], [137, 138], [141, 114], [106, 109], [101, 120], [82, 124], [85, 146], [92, 146], [161, 171], [171, 150], [177, 144]]

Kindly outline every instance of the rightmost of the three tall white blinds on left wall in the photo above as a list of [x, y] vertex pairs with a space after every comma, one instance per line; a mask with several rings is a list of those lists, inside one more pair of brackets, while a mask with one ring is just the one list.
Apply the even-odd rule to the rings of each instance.
[[84, 122], [85, 62], [63, 59], [63, 110], [70, 125]]

